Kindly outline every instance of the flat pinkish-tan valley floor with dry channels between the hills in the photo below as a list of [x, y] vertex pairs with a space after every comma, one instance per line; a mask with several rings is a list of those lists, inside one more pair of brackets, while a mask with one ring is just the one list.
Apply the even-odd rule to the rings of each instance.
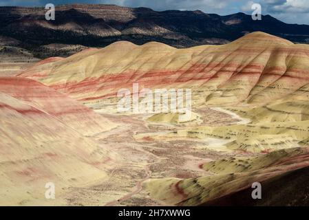
[[[211, 113], [205, 117], [204, 123], [209, 126], [239, 122], [235, 115], [227, 111], [203, 109], [200, 113]], [[105, 118], [120, 123], [116, 129], [101, 133], [92, 138], [120, 155], [118, 165], [109, 170], [109, 179], [102, 184], [87, 188], [72, 188], [67, 195], [69, 205], [78, 206], [160, 206], [171, 205], [164, 201], [151, 199], [143, 190], [142, 184], [151, 178], [175, 177], [195, 178], [213, 175], [202, 168], [202, 164], [235, 155], [256, 155], [243, 151], [220, 151], [222, 140], [209, 139], [207, 142], [198, 140], [160, 140], [136, 141], [134, 135], [147, 133], [169, 133], [178, 126], [169, 124], [149, 124], [146, 115], [109, 115]], [[209, 116], [209, 115], [207, 115]], [[209, 120], [207, 120], [207, 118]], [[217, 146], [219, 151], [214, 150]]]

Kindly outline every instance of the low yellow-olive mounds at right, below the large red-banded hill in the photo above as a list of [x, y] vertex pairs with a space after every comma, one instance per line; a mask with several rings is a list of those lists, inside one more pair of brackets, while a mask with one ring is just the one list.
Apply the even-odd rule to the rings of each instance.
[[[217, 142], [230, 150], [268, 152], [281, 148], [306, 146], [309, 141], [309, 106], [308, 100], [274, 101], [259, 107], [213, 108], [236, 114], [246, 123], [225, 126], [202, 126], [190, 124], [185, 129], [178, 129], [166, 134], [152, 135], [152, 140], [193, 139], [206, 141], [215, 138]], [[174, 124], [175, 116], [156, 114], [150, 122]], [[204, 120], [207, 120], [204, 118]], [[137, 140], [149, 134], [136, 135]], [[205, 146], [207, 146], [205, 144]]]

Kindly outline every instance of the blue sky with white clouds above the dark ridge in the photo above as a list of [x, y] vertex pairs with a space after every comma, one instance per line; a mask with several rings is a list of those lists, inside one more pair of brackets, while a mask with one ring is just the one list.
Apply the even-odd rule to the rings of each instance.
[[251, 14], [251, 5], [260, 3], [262, 14], [270, 14], [286, 23], [309, 24], [308, 0], [0, 0], [0, 5], [44, 6], [47, 3], [107, 3], [129, 7], [149, 7], [153, 10], [202, 10], [206, 13]]

